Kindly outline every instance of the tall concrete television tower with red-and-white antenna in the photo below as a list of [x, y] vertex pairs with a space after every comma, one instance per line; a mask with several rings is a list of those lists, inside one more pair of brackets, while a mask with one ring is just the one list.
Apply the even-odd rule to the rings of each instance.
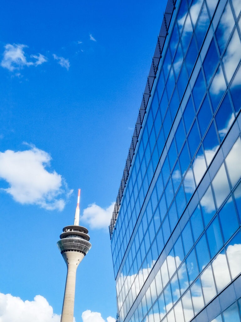
[[61, 251], [67, 265], [61, 322], [73, 322], [76, 270], [81, 260], [83, 260], [87, 252], [91, 249], [88, 230], [85, 227], [79, 226], [79, 199], [80, 189], [78, 189], [74, 225], [64, 227], [62, 234], [59, 236], [60, 240], [57, 242], [58, 249]]

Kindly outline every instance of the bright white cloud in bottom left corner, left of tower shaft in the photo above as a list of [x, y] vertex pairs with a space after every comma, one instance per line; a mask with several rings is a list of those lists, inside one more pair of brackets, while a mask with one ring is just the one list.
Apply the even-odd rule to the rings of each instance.
[[60, 315], [53, 313], [53, 308], [41, 295], [36, 295], [33, 301], [23, 301], [11, 294], [0, 293], [0, 321], [60, 322]]

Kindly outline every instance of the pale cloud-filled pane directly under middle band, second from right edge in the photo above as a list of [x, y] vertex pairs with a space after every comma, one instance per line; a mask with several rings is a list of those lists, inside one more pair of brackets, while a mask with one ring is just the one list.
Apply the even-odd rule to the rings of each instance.
[[214, 190], [214, 195], [219, 208], [224, 199], [228, 196], [230, 192], [230, 187], [228, 184], [228, 178], [225, 171], [224, 164], [219, 168], [218, 173], [212, 181], [212, 186]]

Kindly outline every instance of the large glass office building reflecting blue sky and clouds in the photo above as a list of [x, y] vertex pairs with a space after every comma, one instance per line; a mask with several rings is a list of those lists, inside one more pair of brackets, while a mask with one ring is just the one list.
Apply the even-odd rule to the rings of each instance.
[[110, 225], [118, 321], [238, 322], [241, 0], [168, 6]]

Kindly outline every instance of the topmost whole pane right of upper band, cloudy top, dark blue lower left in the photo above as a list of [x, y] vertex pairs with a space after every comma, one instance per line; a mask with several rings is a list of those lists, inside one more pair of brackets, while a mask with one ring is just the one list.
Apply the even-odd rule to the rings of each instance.
[[228, 42], [228, 38], [232, 32], [233, 27], [234, 27], [234, 18], [233, 18], [231, 7], [228, 3], [221, 16], [219, 25], [215, 31], [215, 36], [217, 39], [220, 54], [222, 54]]

